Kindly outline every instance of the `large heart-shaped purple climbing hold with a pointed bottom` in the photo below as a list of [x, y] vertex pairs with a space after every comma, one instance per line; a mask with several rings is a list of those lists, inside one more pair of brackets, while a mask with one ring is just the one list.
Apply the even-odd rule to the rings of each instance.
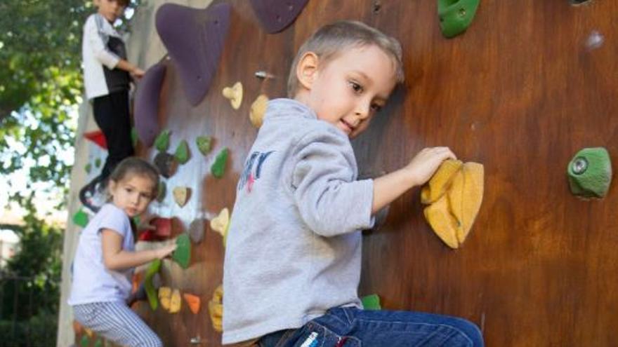
[[157, 32], [192, 106], [204, 99], [217, 70], [230, 27], [230, 8], [226, 3], [203, 10], [164, 4], [157, 11]]

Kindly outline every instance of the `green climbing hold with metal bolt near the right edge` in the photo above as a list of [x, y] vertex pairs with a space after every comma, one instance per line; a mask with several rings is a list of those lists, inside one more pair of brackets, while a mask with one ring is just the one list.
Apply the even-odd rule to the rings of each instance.
[[604, 198], [612, 183], [612, 161], [603, 147], [577, 152], [567, 168], [571, 193], [581, 198]]

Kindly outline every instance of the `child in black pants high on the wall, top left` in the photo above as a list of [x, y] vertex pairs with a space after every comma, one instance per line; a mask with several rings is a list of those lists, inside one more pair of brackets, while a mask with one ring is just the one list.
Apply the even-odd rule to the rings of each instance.
[[81, 203], [96, 212], [104, 203], [103, 191], [114, 166], [133, 155], [129, 116], [129, 82], [144, 72], [126, 60], [126, 48], [114, 22], [129, 0], [94, 0], [97, 13], [84, 24], [81, 54], [86, 97], [92, 102], [94, 119], [105, 135], [107, 159], [100, 175], [79, 192]]

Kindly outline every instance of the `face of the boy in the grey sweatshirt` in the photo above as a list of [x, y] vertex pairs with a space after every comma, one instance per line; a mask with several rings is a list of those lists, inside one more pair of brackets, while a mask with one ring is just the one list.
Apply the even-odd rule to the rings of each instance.
[[396, 83], [393, 60], [373, 45], [348, 48], [322, 64], [318, 60], [308, 73], [308, 83], [301, 80], [301, 101], [350, 138], [367, 129]]

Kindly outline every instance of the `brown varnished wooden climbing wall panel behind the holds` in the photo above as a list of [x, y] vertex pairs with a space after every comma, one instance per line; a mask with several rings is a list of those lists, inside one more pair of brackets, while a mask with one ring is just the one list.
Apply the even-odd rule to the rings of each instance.
[[[217, 1], [216, 1], [217, 2]], [[566, 165], [583, 147], [606, 147], [618, 161], [618, 13], [615, 1], [482, 0], [468, 31], [440, 33], [436, 1], [310, 0], [279, 34], [261, 29], [249, 1], [234, 0], [230, 32], [209, 93], [190, 106], [166, 61], [159, 121], [192, 158], [168, 179], [192, 200], [155, 212], [178, 229], [232, 208], [244, 158], [256, 136], [251, 102], [285, 95], [294, 53], [317, 27], [339, 19], [367, 22], [402, 42], [406, 83], [354, 147], [360, 173], [402, 167], [423, 147], [445, 145], [485, 165], [485, 197], [471, 235], [450, 250], [431, 231], [414, 189], [390, 206], [386, 223], [364, 237], [360, 294], [383, 308], [458, 315], [477, 323], [487, 346], [611, 346], [618, 325], [618, 224], [614, 186], [604, 200], [570, 194]], [[593, 32], [605, 41], [586, 46]], [[254, 76], [264, 70], [275, 79]], [[244, 84], [238, 110], [221, 95]], [[202, 156], [195, 137], [211, 135]], [[210, 164], [230, 149], [225, 175]], [[153, 158], [154, 149], [143, 149]], [[167, 204], [167, 205], [166, 205]], [[221, 236], [207, 222], [187, 270], [165, 266], [165, 285], [196, 294], [202, 311], [170, 315], [138, 308], [166, 346], [219, 346], [206, 302], [222, 280]], [[264, 240], [268, 242], [268, 240]], [[275, 313], [273, 313], [275, 314]]]

